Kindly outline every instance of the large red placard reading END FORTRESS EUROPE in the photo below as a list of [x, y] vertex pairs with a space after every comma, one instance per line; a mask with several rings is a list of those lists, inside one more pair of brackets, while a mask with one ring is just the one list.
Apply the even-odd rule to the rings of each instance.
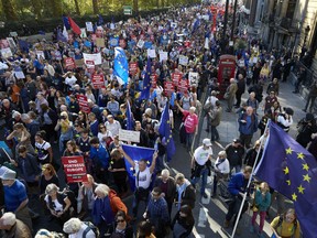
[[88, 182], [84, 156], [62, 156], [67, 183]]

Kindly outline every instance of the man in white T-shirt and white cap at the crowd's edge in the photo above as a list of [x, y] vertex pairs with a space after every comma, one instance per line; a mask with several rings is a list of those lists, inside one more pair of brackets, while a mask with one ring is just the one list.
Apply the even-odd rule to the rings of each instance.
[[192, 158], [192, 184], [195, 187], [201, 177], [200, 195], [205, 198], [208, 197], [206, 194], [207, 176], [210, 174], [211, 170], [211, 149], [210, 139], [205, 138], [203, 140], [203, 145], [198, 147]]

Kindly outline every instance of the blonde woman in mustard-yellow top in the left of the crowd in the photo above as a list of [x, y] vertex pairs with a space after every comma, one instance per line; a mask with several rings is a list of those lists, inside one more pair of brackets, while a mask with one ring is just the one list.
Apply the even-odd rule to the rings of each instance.
[[73, 139], [73, 122], [69, 121], [66, 111], [61, 112], [61, 117], [55, 126], [55, 131], [59, 131], [59, 152], [63, 154], [66, 142]]

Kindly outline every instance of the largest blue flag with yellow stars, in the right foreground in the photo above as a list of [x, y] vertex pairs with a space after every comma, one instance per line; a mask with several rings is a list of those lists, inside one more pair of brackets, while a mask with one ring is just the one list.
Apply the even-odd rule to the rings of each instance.
[[277, 125], [255, 169], [259, 178], [293, 201], [304, 237], [317, 237], [317, 161]]

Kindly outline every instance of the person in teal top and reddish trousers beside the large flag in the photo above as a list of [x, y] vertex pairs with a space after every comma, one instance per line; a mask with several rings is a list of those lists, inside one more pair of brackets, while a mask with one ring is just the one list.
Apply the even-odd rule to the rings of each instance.
[[263, 226], [264, 226], [264, 221], [266, 217], [266, 209], [269, 208], [270, 204], [271, 204], [271, 194], [270, 194], [269, 185], [267, 183], [262, 182], [254, 195], [254, 202], [253, 202], [253, 207], [252, 207], [253, 215], [252, 215], [251, 227], [250, 227], [250, 232], [252, 234], [255, 232], [255, 220], [259, 214], [260, 226], [259, 226], [258, 236], [260, 238], [264, 238]]

